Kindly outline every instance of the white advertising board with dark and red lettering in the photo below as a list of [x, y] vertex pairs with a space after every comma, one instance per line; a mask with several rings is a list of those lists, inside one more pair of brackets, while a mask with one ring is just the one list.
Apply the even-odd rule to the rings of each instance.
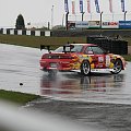
[[102, 28], [119, 28], [119, 22], [103, 22]]

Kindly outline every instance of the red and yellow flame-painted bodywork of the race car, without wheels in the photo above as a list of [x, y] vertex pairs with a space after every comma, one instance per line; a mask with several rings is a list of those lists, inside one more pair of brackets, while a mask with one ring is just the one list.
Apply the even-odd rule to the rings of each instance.
[[[55, 51], [43, 55], [40, 59], [40, 68], [44, 71], [59, 70], [59, 71], [72, 71], [81, 70], [81, 64], [84, 60], [87, 60], [91, 64], [91, 70], [95, 69], [114, 69], [115, 60], [120, 59], [122, 62], [122, 70], [126, 69], [127, 62], [119, 55], [105, 53], [105, 51], [94, 44], [70, 44], [74, 48], [68, 46], [68, 51]], [[92, 50], [91, 50], [92, 48]], [[60, 47], [60, 50], [62, 47]], [[73, 50], [73, 51], [72, 51]], [[87, 52], [86, 52], [87, 51]], [[98, 51], [98, 52], [95, 52]]]

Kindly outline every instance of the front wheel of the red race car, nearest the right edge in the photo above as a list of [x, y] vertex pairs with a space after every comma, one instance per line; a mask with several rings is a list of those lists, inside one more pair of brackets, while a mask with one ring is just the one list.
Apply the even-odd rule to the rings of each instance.
[[114, 71], [111, 71], [112, 74], [118, 74], [120, 73], [122, 70], [122, 61], [120, 59], [117, 59], [115, 61], [115, 67], [114, 67]]

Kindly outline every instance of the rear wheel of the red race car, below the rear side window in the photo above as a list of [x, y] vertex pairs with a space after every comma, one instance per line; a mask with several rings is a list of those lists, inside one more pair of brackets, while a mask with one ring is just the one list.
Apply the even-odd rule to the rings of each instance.
[[88, 61], [83, 61], [81, 64], [81, 74], [88, 75], [91, 73], [91, 64]]

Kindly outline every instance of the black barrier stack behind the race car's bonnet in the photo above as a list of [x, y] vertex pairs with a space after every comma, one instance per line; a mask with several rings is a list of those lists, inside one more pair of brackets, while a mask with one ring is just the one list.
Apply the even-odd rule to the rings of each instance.
[[87, 43], [96, 44], [112, 53], [128, 55], [128, 41], [119, 38], [108, 38], [106, 36], [90, 36]]

